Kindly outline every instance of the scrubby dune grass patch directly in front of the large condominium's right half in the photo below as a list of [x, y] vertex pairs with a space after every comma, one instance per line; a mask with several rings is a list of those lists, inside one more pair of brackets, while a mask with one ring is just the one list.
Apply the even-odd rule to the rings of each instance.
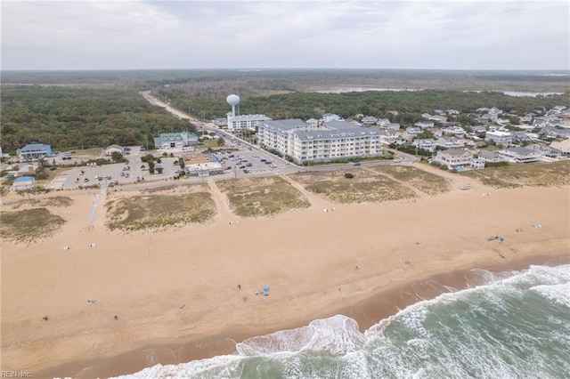
[[291, 178], [303, 183], [305, 189], [336, 203], [379, 203], [416, 198], [412, 189], [386, 175], [366, 169], [355, 169], [350, 173], [354, 175], [350, 179], [343, 171], [296, 173]]

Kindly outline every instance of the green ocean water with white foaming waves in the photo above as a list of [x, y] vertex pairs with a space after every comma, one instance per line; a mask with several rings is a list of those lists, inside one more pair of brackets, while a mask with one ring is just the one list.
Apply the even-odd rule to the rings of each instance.
[[126, 379], [568, 378], [570, 264], [492, 273], [416, 302], [361, 333], [337, 315], [250, 338], [232, 355]]

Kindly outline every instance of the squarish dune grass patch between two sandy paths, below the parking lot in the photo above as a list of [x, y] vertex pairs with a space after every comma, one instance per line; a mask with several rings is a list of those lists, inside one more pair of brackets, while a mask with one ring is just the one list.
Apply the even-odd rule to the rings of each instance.
[[216, 184], [228, 198], [233, 213], [242, 217], [270, 216], [310, 206], [302, 193], [278, 176]]

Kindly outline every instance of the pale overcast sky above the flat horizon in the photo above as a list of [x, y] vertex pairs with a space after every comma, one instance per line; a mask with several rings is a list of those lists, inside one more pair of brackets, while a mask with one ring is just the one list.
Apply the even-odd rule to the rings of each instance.
[[2, 69], [570, 69], [567, 0], [1, 7]]

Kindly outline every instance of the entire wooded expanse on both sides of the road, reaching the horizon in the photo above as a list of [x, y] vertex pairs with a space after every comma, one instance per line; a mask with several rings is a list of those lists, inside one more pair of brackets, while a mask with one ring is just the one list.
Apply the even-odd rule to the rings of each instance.
[[[151, 90], [192, 117], [211, 120], [230, 110], [225, 98], [240, 95], [240, 113], [273, 119], [336, 113], [388, 117], [403, 126], [434, 109], [457, 109], [460, 123], [481, 107], [517, 115], [570, 106], [570, 77], [564, 73], [424, 70], [140, 70], [3, 71], [1, 137], [4, 152], [27, 143], [53, 150], [143, 145], [161, 132], [193, 125], [151, 106], [140, 95]], [[410, 92], [316, 93], [335, 86], [414, 89]], [[421, 89], [419, 91], [419, 89]], [[469, 91], [469, 92], [467, 92]], [[479, 92], [482, 91], [482, 92]], [[499, 91], [558, 92], [513, 97]], [[397, 117], [388, 114], [398, 110]]]

